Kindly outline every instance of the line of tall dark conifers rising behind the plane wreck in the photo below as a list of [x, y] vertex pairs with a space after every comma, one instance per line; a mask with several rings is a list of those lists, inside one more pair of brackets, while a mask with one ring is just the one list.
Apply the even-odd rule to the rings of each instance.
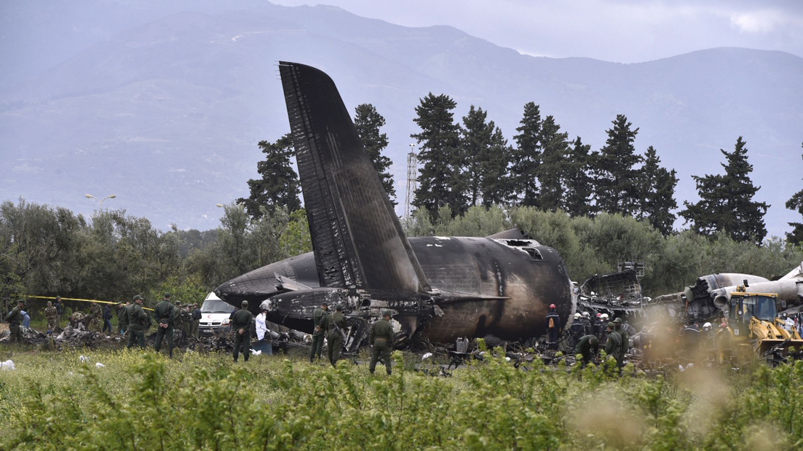
[[[750, 178], [752, 165], [742, 136], [724, 156], [724, 173], [692, 176], [699, 201], [675, 199], [678, 177], [675, 169], [661, 164], [658, 151], [649, 146], [641, 154], [634, 146], [639, 129], [623, 114], [616, 115], [605, 133], [605, 145], [596, 151], [581, 136], [569, 138], [554, 116], [542, 116], [534, 102], [524, 105], [515, 144], [508, 144], [502, 130], [488, 118], [488, 112], [471, 105], [462, 122], [455, 122], [457, 103], [448, 95], [431, 92], [415, 108], [414, 123], [419, 132], [410, 135], [418, 142], [418, 188], [414, 207], [423, 207], [435, 219], [443, 206], [452, 216], [472, 206], [527, 206], [545, 211], [564, 211], [571, 217], [595, 217], [621, 213], [652, 225], [664, 236], [674, 234], [675, 222], [697, 234], [714, 237], [726, 232], [737, 241], [760, 244], [767, 236], [764, 214], [770, 205], [753, 199], [760, 189]], [[395, 203], [391, 160], [385, 156], [387, 135], [381, 132], [385, 118], [372, 104], [355, 109], [355, 128], [382, 184]], [[298, 177], [291, 166], [289, 135], [275, 143], [262, 141], [266, 153], [260, 161], [259, 179], [248, 181], [251, 194], [238, 202], [259, 217], [260, 208], [273, 205], [295, 208]], [[788, 209], [803, 215], [803, 190], [786, 202]], [[790, 243], [803, 240], [803, 225], [791, 222]]]

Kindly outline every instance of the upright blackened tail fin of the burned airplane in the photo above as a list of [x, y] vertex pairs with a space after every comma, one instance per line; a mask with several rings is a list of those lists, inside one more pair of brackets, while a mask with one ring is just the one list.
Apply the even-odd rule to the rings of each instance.
[[429, 291], [335, 83], [304, 64], [279, 74], [320, 285]]

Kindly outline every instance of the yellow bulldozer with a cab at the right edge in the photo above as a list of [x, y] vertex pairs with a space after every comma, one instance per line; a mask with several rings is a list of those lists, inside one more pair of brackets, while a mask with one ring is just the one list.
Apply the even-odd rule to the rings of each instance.
[[770, 364], [785, 362], [790, 350], [803, 351], [803, 339], [777, 318], [776, 293], [747, 293], [738, 286], [731, 293], [728, 324], [733, 330], [737, 356], [757, 355]]

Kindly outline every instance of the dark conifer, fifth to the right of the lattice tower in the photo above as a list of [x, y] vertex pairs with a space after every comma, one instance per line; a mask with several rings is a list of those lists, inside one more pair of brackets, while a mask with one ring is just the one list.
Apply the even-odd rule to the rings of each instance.
[[555, 211], [563, 205], [564, 176], [569, 153], [569, 133], [560, 132], [560, 125], [555, 118], [547, 116], [541, 122], [539, 135], [541, 162], [536, 169], [540, 182], [540, 194], [537, 205], [540, 209]]

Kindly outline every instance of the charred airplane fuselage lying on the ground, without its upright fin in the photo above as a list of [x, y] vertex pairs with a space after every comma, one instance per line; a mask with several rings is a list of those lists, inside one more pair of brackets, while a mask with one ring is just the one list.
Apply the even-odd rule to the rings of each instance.
[[[435, 343], [493, 335], [520, 340], [546, 332], [548, 306], [574, 311], [569, 275], [555, 250], [528, 239], [409, 238], [432, 290], [322, 289], [312, 252], [263, 266], [218, 287], [226, 302], [268, 308], [272, 322], [312, 332], [312, 311], [326, 301], [348, 316], [394, 311], [402, 330]], [[295, 283], [293, 283], [295, 282]]]

